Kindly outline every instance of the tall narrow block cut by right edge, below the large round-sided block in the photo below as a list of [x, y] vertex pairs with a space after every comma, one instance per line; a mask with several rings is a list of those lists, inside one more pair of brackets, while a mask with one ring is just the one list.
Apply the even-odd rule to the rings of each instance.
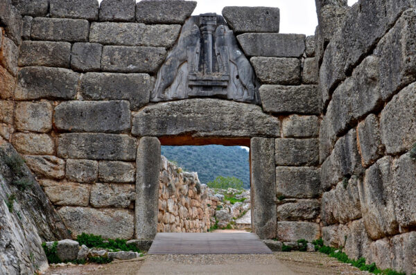
[[401, 227], [416, 225], [416, 161], [404, 154], [393, 166], [393, 198], [397, 221]]

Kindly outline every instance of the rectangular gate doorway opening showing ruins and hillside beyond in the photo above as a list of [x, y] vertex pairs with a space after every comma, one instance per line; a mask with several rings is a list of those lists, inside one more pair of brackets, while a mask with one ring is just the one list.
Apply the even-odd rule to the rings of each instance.
[[250, 148], [162, 145], [157, 232], [251, 232]]

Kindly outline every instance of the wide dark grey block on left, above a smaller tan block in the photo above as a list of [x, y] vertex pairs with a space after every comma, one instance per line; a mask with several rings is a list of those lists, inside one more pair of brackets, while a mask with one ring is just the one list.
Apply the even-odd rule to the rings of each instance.
[[60, 68], [27, 67], [19, 71], [17, 100], [75, 99], [79, 74]]

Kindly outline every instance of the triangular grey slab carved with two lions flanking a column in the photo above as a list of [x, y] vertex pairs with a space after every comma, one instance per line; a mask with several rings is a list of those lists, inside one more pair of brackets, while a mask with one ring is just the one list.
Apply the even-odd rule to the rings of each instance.
[[215, 96], [258, 104], [258, 86], [233, 31], [223, 17], [207, 13], [184, 24], [150, 101]]

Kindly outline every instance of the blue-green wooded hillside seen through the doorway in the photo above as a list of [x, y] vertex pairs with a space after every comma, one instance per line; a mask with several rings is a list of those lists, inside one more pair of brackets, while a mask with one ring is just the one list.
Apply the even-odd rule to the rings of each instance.
[[224, 176], [241, 179], [250, 188], [249, 152], [239, 146], [162, 146], [162, 154], [184, 170], [198, 172], [202, 184]]

